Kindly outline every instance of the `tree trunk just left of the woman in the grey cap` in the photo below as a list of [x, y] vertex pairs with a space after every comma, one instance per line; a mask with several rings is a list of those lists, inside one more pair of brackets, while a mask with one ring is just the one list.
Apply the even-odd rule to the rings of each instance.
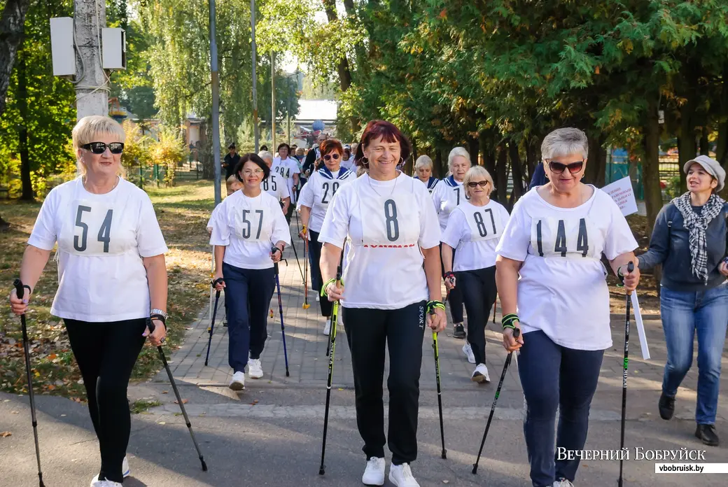
[[644, 202], [647, 210], [647, 234], [652, 235], [657, 213], [662, 209], [660, 191], [660, 123], [657, 120], [657, 93], [647, 101], [644, 115], [644, 160], [642, 175], [644, 181]]

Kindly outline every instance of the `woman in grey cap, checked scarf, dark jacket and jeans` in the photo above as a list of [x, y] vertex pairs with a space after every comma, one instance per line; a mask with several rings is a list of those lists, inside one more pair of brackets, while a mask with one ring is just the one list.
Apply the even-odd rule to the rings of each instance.
[[728, 326], [728, 204], [716, 194], [726, 173], [715, 159], [698, 156], [685, 163], [687, 193], [662, 207], [640, 269], [662, 264], [660, 307], [668, 347], [658, 409], [662, 419], [675, 411], [675, 396], [692, 365], [697, 333], [695, 436], [718, 446], [716, 411], [721, 355]]

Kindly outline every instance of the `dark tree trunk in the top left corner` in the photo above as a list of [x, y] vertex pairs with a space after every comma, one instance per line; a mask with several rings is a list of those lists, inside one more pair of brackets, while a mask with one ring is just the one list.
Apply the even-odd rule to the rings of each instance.
[[7, 0], [0, 16], [0, 115], [5, 111], [5, 96], [10, 84], [20, 42], [23, 41], [25, 14], [31, 0]]

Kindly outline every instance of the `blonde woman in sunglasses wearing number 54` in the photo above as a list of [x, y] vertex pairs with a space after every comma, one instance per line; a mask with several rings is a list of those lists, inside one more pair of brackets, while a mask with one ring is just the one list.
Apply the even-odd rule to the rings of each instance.
[[[149, 197], [121, 177], [121, 125], [86, 116], [72, 137], [82, 176], [44, 200], [20, 267], [25, 296], [21, 301], [13, 290], [10, 303], [15, 314], [27, 312], [58, 243], [51, 314], [66, 325], [99, 439], [101, 467], [91, 486], [116, 487], [130, 473], [125, 455], [132, 368], [146, 336], [155, 346], [165, 341], [167, 245]], [[156, 325], [151, 334], [150, 318]]]

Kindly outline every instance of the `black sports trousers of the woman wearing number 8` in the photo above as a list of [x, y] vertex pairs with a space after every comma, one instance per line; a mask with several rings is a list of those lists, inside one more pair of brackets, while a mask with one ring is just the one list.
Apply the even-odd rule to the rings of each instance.
[[419, 371], [425, 301], [402, 309], [344, 308], [352, 353], [357, 427], [367, 460], [384, 457], [384, 355], [389, 347], [389, 450], [392, 464], [417, 459]]

